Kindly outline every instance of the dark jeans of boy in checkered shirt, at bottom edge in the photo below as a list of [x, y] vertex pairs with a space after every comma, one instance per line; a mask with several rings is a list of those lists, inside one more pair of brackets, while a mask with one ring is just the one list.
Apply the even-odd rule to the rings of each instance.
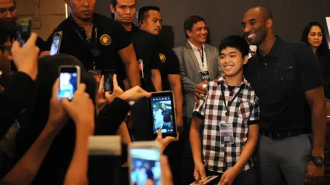
[[[212, 181], [212, 183], [210, 185], [219, 183], [219, 180], [221, 179], [221, 175], [223, 174], [223, 173], [218, 173], [218, 172], [214, 172], [214, 171], [209, 171], [207, 169], [205, 170], [205, 172], [206, 172], [206, 177], [211, 176], [211, 175], [219, 176], [219, 177], [217, 177], [217, 180]], [[256, 185], [257, 182], [258, 182], [257, 172], [256, 172], [256, 169], [254, 167], [252, 167], [252, 168], [248, 169], [247, 171], [241, 171], [239, 173], [239, 175], [236, 176], [232, 185]]]

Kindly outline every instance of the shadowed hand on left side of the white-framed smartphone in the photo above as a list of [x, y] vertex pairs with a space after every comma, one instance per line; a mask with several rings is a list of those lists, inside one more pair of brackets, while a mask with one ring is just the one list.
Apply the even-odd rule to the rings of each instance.
[[56, 127], [59, 130], [63, 128], [67, 122], [67, 114], [62, 108], [60, 100], [58, 99], [58, 86], [60, 80], [56, 79], [53, 85], [52, 98], [50, 99], [50, 115], [48, 116], [48, 124], [51, 124], [52, 127]]

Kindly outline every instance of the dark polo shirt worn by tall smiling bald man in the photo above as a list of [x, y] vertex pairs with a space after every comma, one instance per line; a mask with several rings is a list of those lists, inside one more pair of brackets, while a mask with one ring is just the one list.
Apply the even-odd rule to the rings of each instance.
[[244, 75], [259, 97], [262, 131], [311, 129], [304, 93], [322, 86], [322, 75], [310, 47], [277, 37], [270, 53], [250, 58]]

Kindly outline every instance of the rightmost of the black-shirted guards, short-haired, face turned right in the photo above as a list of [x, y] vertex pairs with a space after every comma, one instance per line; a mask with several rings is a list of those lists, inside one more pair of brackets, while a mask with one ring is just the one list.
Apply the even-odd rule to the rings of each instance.
[[[157, 40], [157, 36], [159, 36], [159, 33], [162, 30], [162, 14], [160, 13], [160, 9], [155, 6], [144, 6], [140, 8], [137, 21], [139, 22], [140, 29], [153, 36], [153, 42], [156, 44], [155, 47], [157, 48], [158, 57], [162, 61], [162, 66], [160, 68], [160, 73], [162, 75], [162, 89], [172, 90], [174, 93], [177, 129], [181, 132], [183, 121], [179, 60], [171, 48], [166, 47], [164, 43]], [[164, 103], [162, 104], [162, 110], [164, 126], [169, 127], [169, 112]], [[183, 149], [181, 144], [181, 142], [171, 143], [164, 151], [169, 158], [174, 184], [180, 183], [181, 149]]]

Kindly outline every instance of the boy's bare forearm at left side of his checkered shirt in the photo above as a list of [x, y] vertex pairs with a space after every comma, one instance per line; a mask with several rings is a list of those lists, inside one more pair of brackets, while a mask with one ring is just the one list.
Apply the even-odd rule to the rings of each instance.
[[192, 157], [194, 162], [202, 162], [201, 160], [201, 136], [199, 136], [199, 130], [192, 126], [190, 127], [190, 146], [192, 151]]

